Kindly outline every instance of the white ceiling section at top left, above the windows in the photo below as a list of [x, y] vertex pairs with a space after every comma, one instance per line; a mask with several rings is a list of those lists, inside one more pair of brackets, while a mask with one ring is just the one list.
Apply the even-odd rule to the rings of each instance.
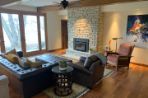
[[[7, 0], [2, 0], [2, 1], [5, 2]], [[12, 6], [12, 5], [19, 4], [19, 5], [27, 5], [27, 6], [32, 6], [32, 7], [44, 7], [48, 5], [57, 5], [62, 0], [10, 0], [10, 1], [14, 1], [14, 2], [3, 3], [3, 6]], [[73, 2], [73, 1], [79, 1], [79, 0], [67, 0], [67, 1]], [[0, 3], [1, 3], [1, 0], [0, 0]]]

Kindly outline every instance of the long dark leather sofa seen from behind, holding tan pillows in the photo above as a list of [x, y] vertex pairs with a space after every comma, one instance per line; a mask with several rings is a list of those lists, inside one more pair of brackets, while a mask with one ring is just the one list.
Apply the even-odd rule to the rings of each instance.
[[17, 91], [19, 98], [31, 98], [53, 85], [52, 66], [55, 64], [47, 63], [39, 68], [23, 69], [0, 56], [0, 73], [8, 76], [10, 86]]

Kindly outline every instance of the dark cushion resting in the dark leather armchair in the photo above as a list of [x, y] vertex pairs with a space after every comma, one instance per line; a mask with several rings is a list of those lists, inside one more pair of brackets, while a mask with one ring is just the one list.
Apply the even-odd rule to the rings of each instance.
[[84, 63], [84, 67], [89, 69], [91, 64], [96, 62], [97, 60], [99, 60], [99, 58], [96, 55], [91, 55], [87, 57]]

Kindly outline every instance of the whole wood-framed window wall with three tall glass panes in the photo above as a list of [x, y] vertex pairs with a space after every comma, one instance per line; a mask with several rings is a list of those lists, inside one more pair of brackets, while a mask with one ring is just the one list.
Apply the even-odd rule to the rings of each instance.
[[[27, 53], [46, 50], [45, 16], [40, 13], [0, 10], [0, 40], [3, 52], [16, 49]], [[1, 36], [2, 35], [2, 36]]]

